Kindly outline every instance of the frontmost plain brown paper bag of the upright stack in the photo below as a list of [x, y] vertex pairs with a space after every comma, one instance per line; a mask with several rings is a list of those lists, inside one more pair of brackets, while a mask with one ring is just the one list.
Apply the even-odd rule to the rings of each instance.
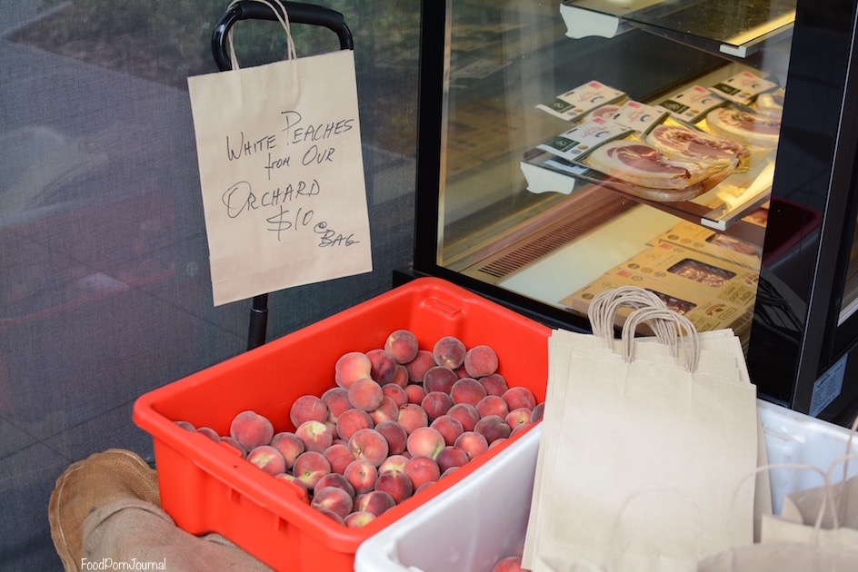
[[[670, 319], [694, 334], [685, 337], [693, 358], [681, 352], [665, 360], [653, 353], [657, 346], [634, 342], [637, 323], [653, 315], [635, 311], [625, 322], [622, 359], [612, 350], [575, 347], [564, 391], [550, 392], [552, 398], [564, 393], [563, 404], [552, 408], [554, 419], [546, 398], [542, 440], [555, 443], [554, 449], [541, 443], [540, 454], [553, 453], [543, 459], [525, 567], [547, 570], [541, 563], [565, 559], [610, 569], [689, 569], [698, 553], [729, 546], [725, 498], [733, 485], [726, 483], [756, 466], [755, 390], [735, 368], [729, 377], [696, 370], [693, 326], [673, 312]], [[687, 527], [677, 527], [686, 519], [681, 511], [653, 501], [624, 515], [623, 527], [611, 537], [624, 499], [653, 485], [693, 499], [706, 534], [689, 535]], [[753, 492], [736, 510], [732, 518], [750, 541]], [[532, 537], [539, 541], [528, 550]]]

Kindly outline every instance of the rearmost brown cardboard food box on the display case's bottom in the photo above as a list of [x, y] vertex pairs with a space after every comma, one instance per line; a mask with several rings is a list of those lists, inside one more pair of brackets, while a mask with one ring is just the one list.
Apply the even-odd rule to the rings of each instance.
[[680, 222], [670, 231], [654, 237], [649, 244], [659, 246], [661, 242], [670, 242], [691, 251], [702, 252], [754, 272], [760, 271], [760, 253], [752, 245], [693, 222]]

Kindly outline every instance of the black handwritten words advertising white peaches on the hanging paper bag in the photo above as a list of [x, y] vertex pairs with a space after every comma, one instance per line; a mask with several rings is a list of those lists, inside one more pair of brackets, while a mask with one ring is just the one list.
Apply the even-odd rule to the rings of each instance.
[[[330, 123], [304, 125], [304, 118], [296, 111], [286, 111], [283, 115], [282, 133], [266, 133], [262, 137], [246, 137], [244, 132], [238, 137], [226, 136], [226, 155], [230, 162], [244, 160], [262, 160], [259, 164], [272, 180], [272, 172], [288, 170], [294, 161], [306, 167], [313, 164], [334, 163], [336, 147], [332, 141], [337, 135], [352, 130], [354, 119], [340, 119]], [[305, 146], [308, 143], [309, 146]], [[295, 153], [295, 146], [302, 150]], [[317, 218], [312, 209], [297, 208], [302, 199], [322, 194], [322, 184], [318, 179], [312, 181], [293, 181], [281, 183], [274, 189], [254, 192], [250, 182], [235, 182], [226, 189], [223, 196], [226, 215], [234, 219], [243, 212], [256, 211], [261, 208], [278, 210], [276, 214], [265, 218], [268, 230], [276, 234], [277, 240], [283, 238], [284, 232], [300, 232], [312, 229], [318, 234], [318, 245], [322, 247], [351, 246], [358, 241], [354, 233], [347, 236], [328, 228], [325, 221], [315, 221]], [[284, 207], [284, 205], [289, 208]]]

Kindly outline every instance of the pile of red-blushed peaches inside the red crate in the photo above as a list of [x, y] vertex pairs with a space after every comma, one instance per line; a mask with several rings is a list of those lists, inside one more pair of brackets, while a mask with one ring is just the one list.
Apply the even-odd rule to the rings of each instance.
[[384, 347], [336, 361], [335, 385], [294, 401], [294, 431], [246, 410], [229, 436], [179, 421], [300, 488], [313, 508], [360, 527], [542, 418], [532, 391], [509, 387], [487, 345], [453, 336], [421, 350], [396, 330]]

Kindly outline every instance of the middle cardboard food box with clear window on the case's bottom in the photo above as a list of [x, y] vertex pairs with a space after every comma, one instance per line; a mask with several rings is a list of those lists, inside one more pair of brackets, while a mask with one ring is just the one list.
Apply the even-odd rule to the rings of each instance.
[[660, 242], [620, 264], [617, 271], [631, 271], [658, 281], [673, 291], [687, 291], [737, 308], [753, 307], [759, 273], [671, 242]]

